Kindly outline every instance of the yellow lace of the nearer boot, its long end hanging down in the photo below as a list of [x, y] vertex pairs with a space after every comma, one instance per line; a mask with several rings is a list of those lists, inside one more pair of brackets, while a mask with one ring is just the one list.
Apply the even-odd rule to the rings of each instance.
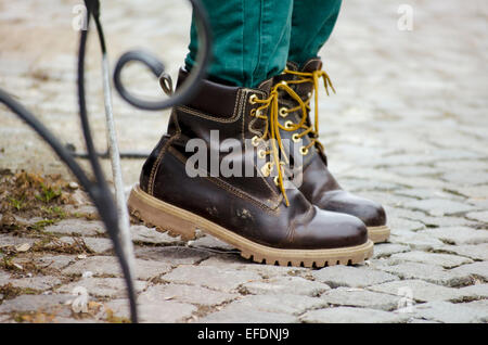
[[[268, 154], [272, 155], [272, 163], [268, 163], [266, 165], [266, 173], [264, 174], [266, 177], [269, 176], [269, 174], [271, 173], [273, 166], [280, 167], [278, 168], [278, 176], [274, 178], [274, 183], [280, 188], [281, 193], [283, 194], [284, 201], [286, 206], [290, 206], [290, 202], [286, 196], [286, 192], [285, 192], [285, 188], [284, 188], [284, 182], [283, 182], [283, 167], [282, 165], [287, 164], [288, 162], [282, 162], [280, 161], [280, 151], [281, 152], [285, 152], [283, 149], [283, 144], [281, 141], [281, 136], [280, 136], [280, 129], [283, 130], [297, 130], [298, 128], [300, 128], [301, 126], [305, 125], [306, 122], [306, 116], [304, 116], [300, 120], [299, 124], [294, 124], [292, 127], [290, 128], [285, 128], [283, 127], [279, 119], [279, 106], [278, 106], [278, 98], [279, 98], [279, 91], [280, 90], [284, 90], [285, 92], [287, 92], [297, 103], [298, 105], [296, 106], [297, 110], [303, 111], [304, 114], [307, 113], [307, 108], [306, 108], [306, 104], [304, 103], [304, 101], [300, 99], [300, 97], [287, 85], [287, 81], [282, 81], [280, 84], [274, 85], [271, 88], [271, 91], [269, 93], [269, 97], [267, 99], [259, 99], [256, 94], [253, 94], [249, 97], [249, 103], [251, 104], [260, 104], [258, 107], [253, 108], [251, 111], [251, 116], [253, 117], [257, 117], [260, 119], [266, 120], [266, 130], [262, 133], [261, 137], [254, 137], [253, 138], [253, 144], [257, 144], [257, 142], [259, 140], [267, 140], [270, 139], [271, 141], [271, 150], [268, 151], [259, 151], [258, 155], [264, 158], [266, 157]], [[267, 115], [264, 115], [264, 111], [269, 108], [269, 117]], [[255, 145], [256, 145], [255, 144]], [[286, 154], [283, 154], [284, 158], [287, 161], [286, 158]], [[262, 170], [261, 170], [262, 171]]]

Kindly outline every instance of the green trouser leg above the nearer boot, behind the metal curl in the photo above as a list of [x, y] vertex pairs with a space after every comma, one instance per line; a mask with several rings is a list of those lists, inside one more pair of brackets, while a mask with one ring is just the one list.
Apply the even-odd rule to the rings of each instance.
[[[203, 0], [213, 31], [208, 77], [222, 84], [256, 87], [284, 69], [288, 55], [293, 0]], [[196, 59], [192, 23], [185, 66]]]

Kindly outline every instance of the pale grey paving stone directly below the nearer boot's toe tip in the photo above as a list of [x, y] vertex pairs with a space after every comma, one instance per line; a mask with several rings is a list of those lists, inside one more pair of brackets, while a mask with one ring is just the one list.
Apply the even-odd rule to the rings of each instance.
[[383, 271], [350, 266], [324, 267], [313, 271], [312, 276], [317, 281], [323, 282], [331, 288], [364, 288], [391, 280], [398, 280], [398, 277]]

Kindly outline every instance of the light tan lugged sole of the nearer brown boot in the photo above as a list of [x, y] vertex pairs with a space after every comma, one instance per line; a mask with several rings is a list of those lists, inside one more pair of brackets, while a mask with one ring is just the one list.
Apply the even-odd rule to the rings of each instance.
[[372, 241], [358, 246], [333, 250], [281, 250], [258, 244], [201, 216], [151, 196], [139, 186], [130, 192], [128, 205], [130, 214], [149, 227], [156, 227], [157, 230], [168, 231], [172, 235], [181, 235], [183, 240], [194, 239], [195, 230], [201, 229], [233, 245], [241, 251], [243, 257], [256, 263], [324, 267], [358, 264], [373, 255]]

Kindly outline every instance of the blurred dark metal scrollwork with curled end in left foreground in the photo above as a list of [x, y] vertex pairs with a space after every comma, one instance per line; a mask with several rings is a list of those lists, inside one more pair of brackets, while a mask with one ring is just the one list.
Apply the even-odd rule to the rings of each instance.
[[[125, 53], [117, 62], [114, 72], [114, 85], [123, 99], [136, 107], [150, 111], [158, 111], [174, 106], [175, 104], [184, 103], [196, 91], [200, 80], [205, 77], [206, 66], [210, 59], [210, 35], [206, 13], [200, 0], [190, 0], [193, 7], [193, 13], [198, 20], [200, 33], [202, 33], [200, 40], [202, 47], [198, 52], [197, 68], [192, 72], [192, 77], [185, 85], [171, 98], [162, 101], [145, 101], [140, 100], [130, 94], [120, 80], [120, 74], [124, 66], [131, 61], [139, 61], [145, 64], [151, 72], [157, 77], [167, 78], [164, 73], [164, 65], [155, 56], [143, 51], [130, 51]], [[97, 207], [105, 229], [114, 243], [115, 253], [118, 257], [121, 270], [124, 272], [127, 284], [127, 292], [130, 302], [131, 321], [138, 322], [136, 291], [133, 283], [133, 248], [132, 241], [129, 233], [129, 217], [127, 212], [126, 200], [124, 196], [124, 184], [120, 170], [120, 155], [118, 151], [114, 117], [112, 113], [112, 94], [110, 86], [110, 67], [106, 54], [105, 38], [103, 35], [102, 24], [100, 22], [100, 1], [86, 0], [87, 7], [87, 29], [81, 30], [78, 52], [78, 101], [79, 101], [79, 116], [81, 120], [81, 129], [85, 137], [87, 153], [84, 154], [90, 161], [94, 181], [88, 179], [85, 171], [75, 161], [72, 150], [66, 149], [53, 135], [29, 111], [27, 111], [21, 103], [15, 101], [8, 92], [0, 89], [0, 102], [4, 103], [8, 108], [15, 113], [20, 118], [27, 123], [57, 154], [57, 156], [66, 164], [73, 175], [78, 179], [82, 188], [90, 195], [94, 206]], [[108, 186], [103, 176], [99, 154], [95, 152], [93, 140], [91, 137], [90, 125], [87, 114], [87, 104], [85, 97], [85, 55], [86, 44], [89, 33], [90, 17], [93, 17], [97, 31], [99, 35], [101, 51], [102, 51], [102, 69], [103, 69], [103, 91], [105, 101], [105, 115], [107, 124], [108, 149], [104, 154], [105, 157], [111, 158], [112, 173], [115, 184], [115, 199], [112, 197]], [[169, 93], [169, 92], [168, 92]], [[129, 156], [134, 156], [133, 154]], [[136, 154], [140, 156], [140, 154]]]

